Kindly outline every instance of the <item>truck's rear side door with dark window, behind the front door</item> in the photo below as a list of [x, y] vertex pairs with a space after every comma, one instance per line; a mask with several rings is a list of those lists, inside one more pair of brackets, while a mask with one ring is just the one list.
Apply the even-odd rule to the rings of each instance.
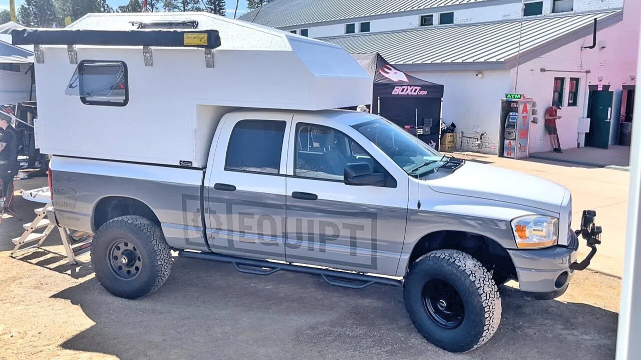
[[234, 112], [219, 125], [204, 189], [214, 252], [285, 260], [284, 174], [291, 120], [292, 115], [278, 113]]

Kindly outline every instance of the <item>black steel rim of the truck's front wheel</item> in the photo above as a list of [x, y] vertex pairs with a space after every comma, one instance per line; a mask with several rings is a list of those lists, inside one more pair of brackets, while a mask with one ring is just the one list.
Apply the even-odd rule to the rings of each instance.
[[443, 329], [456, 329], [463, 322], [465, 305], [454, 286], [443, 279], [431, 279], [422, 291], [423, 306], [433, 322]]

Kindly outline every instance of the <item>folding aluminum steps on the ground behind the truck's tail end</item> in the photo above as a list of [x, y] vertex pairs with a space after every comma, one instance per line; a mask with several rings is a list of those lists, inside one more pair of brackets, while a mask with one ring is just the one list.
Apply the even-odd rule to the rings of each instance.
[[[24, 233], [22, 233], [19, 238], [12, 240], [15, 246], [10, 256], [13, 257], [20, 252], [39, 248], [55, 227], [58, 228], [62, 245], [65, 247], [65, 253], [67, 254], [67, 261], [69, 261], [70, 264], [77, 264], [78, 259], [76, 258], [91, 249], [91, 236], [81, 236], [76, 240], [71, 236], [69, 229], [56, 225], [53, 206], [51, 206], [51, 204], [47, 204], [44, 208], [35, 209], [34, 212], [36, 213], [36, 218], [29, 224], [22, 225], [22, 227], [24, 227]], [[51, 222], [50, 219], [54, 221]], [[38, 229], [45, 230], [43, 233], [34, 233], [34, 231]], [[24, 245], [29, 246], [24, 247]]]

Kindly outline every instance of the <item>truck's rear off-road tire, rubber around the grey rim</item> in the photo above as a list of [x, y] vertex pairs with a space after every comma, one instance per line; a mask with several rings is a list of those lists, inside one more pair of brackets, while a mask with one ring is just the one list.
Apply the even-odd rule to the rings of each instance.
[[[122, 240], [136, 247], [142, 261], [140, 272], [133, 279], [122, 279], [110, 265], [110, 249], [114, 243]], [[96, 278], [117, 297], [143, 297], [158, 290], [169, 277], [169, 245], [160, 225], [147, 218], [128, 215], [109, 220], [96, 231], [91, 248]]]

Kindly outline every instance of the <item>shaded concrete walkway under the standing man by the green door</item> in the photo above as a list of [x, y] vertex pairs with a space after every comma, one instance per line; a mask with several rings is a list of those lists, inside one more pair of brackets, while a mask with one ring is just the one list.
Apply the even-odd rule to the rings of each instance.
[[553, 160], [575, 165], [611, 168], [613, 170], [629, 171], [630, 148], [628, 146], [610, 145], [609, 149], [597, 147], [579, 147], [556, 152], [534, 152], [530, 158]]

